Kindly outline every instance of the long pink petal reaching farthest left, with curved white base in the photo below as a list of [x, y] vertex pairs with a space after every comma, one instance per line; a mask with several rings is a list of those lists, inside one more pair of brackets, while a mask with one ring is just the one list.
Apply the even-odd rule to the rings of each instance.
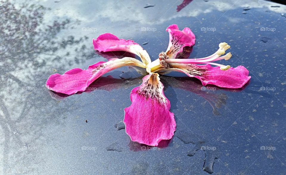
[[83, 92], [94, 80], [106, 72], [130, 65], [145, 67], [141, 61], [130, 57], [109, 59], [107, 62], [97, 62], [86, 70], [74, 68], [63, 75], [58, 73], [50, 75], [46, 87], [52, 91], [68, 95]]

